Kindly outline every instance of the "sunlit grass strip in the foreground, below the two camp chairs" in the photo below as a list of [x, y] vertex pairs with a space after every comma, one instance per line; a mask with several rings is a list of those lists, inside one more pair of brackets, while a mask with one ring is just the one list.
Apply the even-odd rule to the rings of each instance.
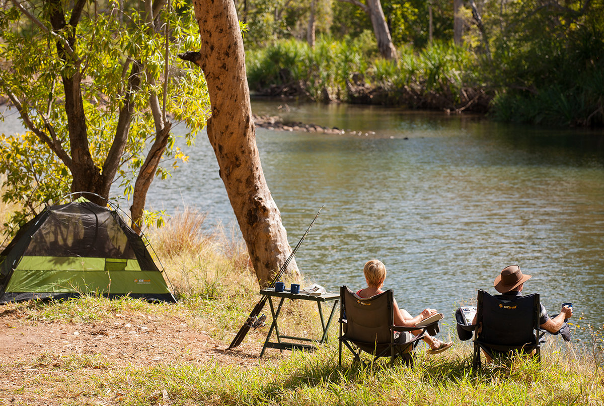
[[[117, 369], [89, 355], [53, 360], [62, 374], [37, 375], [19, 395], [36, 388], [66, 404], [122, 405], [602, 405], [602, 376], [583, 361], [558, 355], [541, 364], [515, 358], [472, 371], [464, 352], [428, 358], [414, 367], [375, 363], [363, 367], [336, 347], [292, 352], [254, 367], [237, 364], [159, 364]], [[45, 359], [40, 359], [37, 368]], [[27, 367], [27, 366], [26, 366]], [[0, 372], [10, 376], [7, 366]], [[55, 375], [56, 376], [56, 375]]]

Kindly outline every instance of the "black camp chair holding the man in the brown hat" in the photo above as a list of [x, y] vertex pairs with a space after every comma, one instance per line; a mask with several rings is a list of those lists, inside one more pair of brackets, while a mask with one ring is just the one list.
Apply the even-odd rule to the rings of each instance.
[[481, 366], [481, 349], [491, 358], [527, 353], [541, 361], [541, 338], [545, 333], [539, 330], [540, 308], [539, 294], [506, 300], [480, 289], [476, 312], [476, 326], [480, 328], [476, 328], [474, 336], [474, 369]]

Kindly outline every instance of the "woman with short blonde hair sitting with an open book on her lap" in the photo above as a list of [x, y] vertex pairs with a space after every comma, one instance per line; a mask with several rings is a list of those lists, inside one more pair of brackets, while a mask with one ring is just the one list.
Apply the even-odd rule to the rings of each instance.
[[[386, 266], [384, 263], [377, 259], [372, 259], [365, 263], [365, 267], [363, 269], [365, 274], [365, 281], [367, 282], [367, 288], [361, 289], [356, 292], [356, 296], [359, 299], [367, 299], [373, 297], [374, 295], [381, 294], [382, 286], [384, 286], [384, 280], [386, 279]], [[424, 309], [419, 315], [416, 317], [412, 317], [405, 309], [399, 309], [399, 306], [396, 304], [396, 300], [394, 301], [394, 325], [401, 327], [415, 327], [420, 321], [425, 320], [432, 315], [435, 315], [437, 312], [435, 309]], [[417, 332], [413, 332], [414, 334], [420, 334], [421, 330], [417, 330]], [[399, 335], [399, 342], [406, 343], [413, 338], [413, 335], [409, 332], [402, 332]], [[444, 342], [439, 340], [436, 337], [432, 337], [429, 334], [424, 334], [423, 341], [428, 343], [430, 349], [428, 353], [436, 354], [439, 352], [443, 352], [449, 349], [453, 343], [451, 341]]]

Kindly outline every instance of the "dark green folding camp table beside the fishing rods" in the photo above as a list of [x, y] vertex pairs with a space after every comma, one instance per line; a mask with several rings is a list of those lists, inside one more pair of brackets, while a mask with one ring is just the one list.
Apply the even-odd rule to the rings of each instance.
[[[293, 349], [315, 350], [317, 344], [325, 343], [325, 341], [327, 340], [327, 329], [329, 329], [329, 324], [332, 322], [333, 314], [335, 313], [336, 307], [338, 305], [339, 294], [326, 293], [326, 294], [322, 294], [320, 296], [313, 296], [313, 295], [306, 294], [303, 291], [301, 291], [300, 293], [291, 293], [289, 291], [289, 289], [285, 289], [285, 291], [283, 291], [283, 292], [275, 292], [274, 288], [262, 289], [260, 291], [260, 294], [268, 296], [268, 303], [271, 306], [271, 314], [272, 314], [271, 328], [268, 330], [268, 335], [266, 335], [266, 341], [265, 341], [264, 346], [262, 347], [262, 352], [260, 352], [260, 357], [262, 357], [262, 355], [264, 355], [264, 352], [267, 348], [275, 348], [275, 349], [281, 350], [281, 352], [283, 352], [283, 350], [293, 350]], [[272, 301], [273, 298], [280, 298], [279, 304], [276, 309], [275, 309], [275, 305]], [[319, 309], [321, 327], [323, 328], [323, 335], [321, 336], [320, 340], [312, 340], [311, 338], [306, 338], [306, 337], [292, 337], [289, 335], [280, 334], [279, 326], [277, 325], [277, 319], [279, 318], [279, 314], [281, 313], [281, 306], [283, 306], [283, 301], [285, 299], [312, 300], [312, 301], [316, 302], [316, 305], [318, 306], [318, 309]], [[323, 306], [321, 306], [321, 305], [327, 301], [333, 301], [333, 306], [332, 306], [331, 312], [329, 313], [329, 318], [327, 319], [327, 322], [326, 322], [323, 317]], [[327, 307], [329, 308], [329, 306], [327, 306]], [[273, 334], [273, 331], [275, 332], [275, 338], [277, 338], [276, 343], [271, 342], [271, 336]], [[309, 341], [312, 344], [291, 343], [289, 341], [281, 341], [282, 339], [297, 340], [297, 341]]]

